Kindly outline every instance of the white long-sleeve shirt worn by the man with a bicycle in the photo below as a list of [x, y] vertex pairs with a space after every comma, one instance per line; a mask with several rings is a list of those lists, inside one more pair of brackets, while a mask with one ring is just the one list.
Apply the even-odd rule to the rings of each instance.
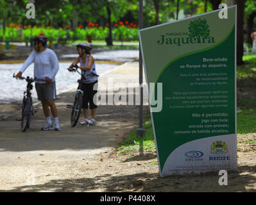
[[[33, 51], [30, 56], [28, 56], [25, 63], [22, 65], [21, 72], [23, 73], [31, 63], [34, 65], [34, 78], [44, 79], [50, 78], [52, 81], [55, 81], [56, 73], [58, 72], [58, 58], [53, 50], [46, 49], [38, 53]], [[44, 81], [36, 81], [36, 83], [46, 83]]]

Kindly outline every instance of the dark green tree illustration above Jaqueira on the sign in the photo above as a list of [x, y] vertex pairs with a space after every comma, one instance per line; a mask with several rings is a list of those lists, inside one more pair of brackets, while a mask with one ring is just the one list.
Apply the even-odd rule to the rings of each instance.
[[209, 25], [207, 24], [206, 19], [197, 19], [191, 21], [189, 24], [189, 37], [197, 38], [198, 43], [200, 43], [200, 37], [208, 38], [210, 35], [210, 30], [208, 29]]

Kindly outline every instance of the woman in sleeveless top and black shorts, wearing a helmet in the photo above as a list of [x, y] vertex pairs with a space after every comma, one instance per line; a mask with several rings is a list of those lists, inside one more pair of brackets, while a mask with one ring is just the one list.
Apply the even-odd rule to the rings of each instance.
[[[96, 97], [94, 95], [97, 93], [97, 85], [94, 88], [94, 85], [98, 83], [98, 74], [96, 73], [94, 58], [90, 54], [90, 47], [89, 44], [80, 43], [76, 45], [76, 49], [78, 51], [79, 56], [73, 61], [71, 66], [69, 67], [69, 71], [73, 71], [73, 66], [80, 63], [79, 69], [81, 69], [81, 90], [83, 90], [83, 115], [85, 119], [81, 122], [82, 125], [94, 125], [95, 115], [96, 115]], [[88, 103], [90, 104], [89, 108], [91, 111], [91, 119], [88, 120]]]

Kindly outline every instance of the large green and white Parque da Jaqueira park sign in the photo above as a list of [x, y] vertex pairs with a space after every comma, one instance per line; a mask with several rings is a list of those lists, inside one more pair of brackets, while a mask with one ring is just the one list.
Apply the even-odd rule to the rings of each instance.
[[237, 169], [237, 7], [219, 12], [139, 31], [160, 176]]

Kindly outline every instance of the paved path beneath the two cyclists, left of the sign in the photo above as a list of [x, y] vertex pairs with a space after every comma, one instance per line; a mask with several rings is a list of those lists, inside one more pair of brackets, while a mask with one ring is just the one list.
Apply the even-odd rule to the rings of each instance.
[[[139, 62], [120, 65], [101, 76], [99, 82], [107, 83], [109, 78], [113, 79], [114, 85], [138, 82]], [[108, 97], [118, 92], [112, 92], [112, 87], [108, 91]], [[49, 167], [64, 168], [75, 160], [109, 152], [139, 124], [139, 107], [136, 105], [99, 105], [96, 126], [78, 124], [71, 127], [71, 110], [66, 105], [73, 103], [74, 92], [75, 89], [71, 89], [60, 94], [56, 100], [62, 131], [40, 131], [40, 127], [45, 124], [40, 104], [31, 121], [31, 129], [26, 133], [21, 132], [21, 122], [15, 121], [21, 111], [15, 111], [11, 117], [0, 121], [0, 190], [26, 185], [26, 176], [31, 170], [43, 173]], [[147, 96], [144, 97], [146, 99]]]

